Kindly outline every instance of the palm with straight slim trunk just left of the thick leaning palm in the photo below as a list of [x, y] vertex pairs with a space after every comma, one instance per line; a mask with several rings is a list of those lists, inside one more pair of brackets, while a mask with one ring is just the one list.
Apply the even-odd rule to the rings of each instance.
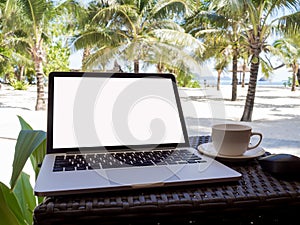
[[[237, 99], [238, 59], [243, 52], [241, 33], [243, 31], [244, 12], [242, 9], [241, 1], [212, 0], [208, 3], [207, 8], [200, 8], [188, 20], [190, 30], [196, 37], [210, 39], [210, 42], [214, 42], [216, 46], [218, 46], [218, 41], [221, 41], [221, 48], [230, 49], [232, 56], [232, 101]], [[211, 51], [211, 49], [207, 48], [207, 51]], [[217, 54], [219, 53], [217, 52]]]

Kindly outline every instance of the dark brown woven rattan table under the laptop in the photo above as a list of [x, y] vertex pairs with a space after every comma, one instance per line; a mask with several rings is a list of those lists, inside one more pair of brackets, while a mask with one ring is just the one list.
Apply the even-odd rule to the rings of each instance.
[[[208, 136], [190, 137], [197, 147]], [[300, 182], [263, 171], [257, 160], [226, 163], [237, 182], [47, 197], [34, 224], [300, 224]], [[299, 171], [300, 174], [300, 171]]]

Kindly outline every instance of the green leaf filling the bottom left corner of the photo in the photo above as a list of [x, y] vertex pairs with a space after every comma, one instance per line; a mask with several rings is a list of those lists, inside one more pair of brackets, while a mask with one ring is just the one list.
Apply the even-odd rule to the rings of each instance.
[[22, 210], [15, 194], [0, 182], [0, 224], [24, 224]]

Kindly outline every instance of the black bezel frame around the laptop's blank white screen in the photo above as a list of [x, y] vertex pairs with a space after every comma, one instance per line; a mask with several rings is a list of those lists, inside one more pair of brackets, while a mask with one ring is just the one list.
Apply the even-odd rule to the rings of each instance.
[[[145, 145], [117, 145], [117, 146], [94, 146], [94, 147], [74, 147], [74, 148], [53, 148], [53, 108], [54, 108], [54, 79], [56, 77], [107, 77], [107, 78], [162, 78], [171, 79], [173, 91], [176, 99], [177, 109], [180, 117], [183, 143], [164, 143], [164, 144], [145, 144]], [[99, 150], [132, 150], [132, 149], [163, 149], [189, 147], [188, 133], [181, 107], [179, 92], [177, 89], [176, 78], [171, 73], [108, 73], [108, 72], [51, 72], [48, 79], [48, 117], [47, 117], [47, 153], [65, 153], [65, 152], [95, 152]]]

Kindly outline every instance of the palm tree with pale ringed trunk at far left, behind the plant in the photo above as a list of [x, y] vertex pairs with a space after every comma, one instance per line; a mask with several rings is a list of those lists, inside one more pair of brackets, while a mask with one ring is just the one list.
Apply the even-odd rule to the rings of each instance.
[[60, 12], [57, 1], [11, 0], [3, 1], [2, 24], [10, 29], [12, 44], [21, 56], [30, 58], [36, 76], [36, 110], [46, 109], [44, 93], [45, 42], [49, 38], [49, 28], [53, 18]]

